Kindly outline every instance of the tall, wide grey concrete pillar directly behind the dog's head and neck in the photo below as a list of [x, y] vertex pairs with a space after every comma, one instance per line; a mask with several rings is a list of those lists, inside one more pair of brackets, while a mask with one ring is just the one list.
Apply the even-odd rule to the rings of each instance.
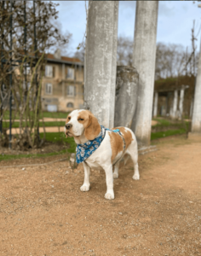
[[101, 125], [114, 125], [118, 1], [89, 1], [84, 78], [85, 106]]

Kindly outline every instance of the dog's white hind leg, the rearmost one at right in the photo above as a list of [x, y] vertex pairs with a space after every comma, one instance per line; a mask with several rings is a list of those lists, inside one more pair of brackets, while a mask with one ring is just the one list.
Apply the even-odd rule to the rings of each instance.
[[140, 173], [138, 169], [138, 150], [137, 150], [137, 143], [133, 141], [129, 144], [129, 147], [126, 150], [126, 154], [129, 154], [131, 160], [134, 163], [134, 176], [133, 179], [138, 180], [140, 179]]

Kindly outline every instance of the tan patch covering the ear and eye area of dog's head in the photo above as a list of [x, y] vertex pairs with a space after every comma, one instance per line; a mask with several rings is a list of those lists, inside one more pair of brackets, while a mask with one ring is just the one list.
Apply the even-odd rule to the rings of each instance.
[[101, 131], [100, 124], [98, 119], [95, 118], [94, 114], [91, 113], [89, 110], [83, 110], [79, 113], [78, 120], [81, 124], [83, 124], [84, 129], [84, 136], [88, 140], [94, 140]]

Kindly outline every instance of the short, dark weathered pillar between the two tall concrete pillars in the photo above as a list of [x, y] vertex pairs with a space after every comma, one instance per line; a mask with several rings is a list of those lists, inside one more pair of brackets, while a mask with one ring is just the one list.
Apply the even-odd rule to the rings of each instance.
[[114, 126], [131, 127], [136, 108], [139, 75], [135, 67], [118, 66]]

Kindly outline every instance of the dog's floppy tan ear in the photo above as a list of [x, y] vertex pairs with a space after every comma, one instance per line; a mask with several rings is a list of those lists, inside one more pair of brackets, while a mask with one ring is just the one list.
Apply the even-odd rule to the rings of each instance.
[[92, 141], [99, 135], [101, 131], [98, 119], [92, 113], [89, 113], [89, 121], [84, 130], [84, 136]]

